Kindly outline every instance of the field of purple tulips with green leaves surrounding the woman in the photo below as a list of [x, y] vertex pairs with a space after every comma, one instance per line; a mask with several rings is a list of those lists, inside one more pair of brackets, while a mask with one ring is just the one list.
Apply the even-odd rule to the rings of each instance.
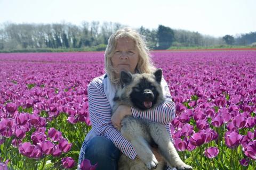
[[[151, 55], [176, 105], [181, 159], [198, 170], [256, 169], [256, 50]], [[87, 86], [103, 67], [103, 52], [0, 53], [0, 169], [76, 169], [91, 129]]]

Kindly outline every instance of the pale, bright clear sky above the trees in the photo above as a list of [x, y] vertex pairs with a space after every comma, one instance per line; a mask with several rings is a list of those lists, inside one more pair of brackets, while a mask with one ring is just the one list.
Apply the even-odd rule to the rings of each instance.
[[0, 24], [118, 22], [238, 36], [256, 31], [256, 0], [0, 0]]

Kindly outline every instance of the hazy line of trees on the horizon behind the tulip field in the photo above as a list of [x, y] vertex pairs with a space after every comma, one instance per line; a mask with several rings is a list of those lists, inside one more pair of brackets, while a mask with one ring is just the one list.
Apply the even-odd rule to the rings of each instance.
[[[100, 47], [104, 50], [109, 36], [117, 29], [127, 27], [120, 23], [98, 21], [71, 23], [35, 24], [4, 23], [0, 25], [0, 50], [33, 48], [85, 48]], [[216, 46], [216, 45], [250, 45], [256, 42], [256, 32], [246, 33], [240, 37], [205, 36], [198, 32], [171, 29], [158, 25], [157, 29], [143, 26], [137, 29], [147, 41], [150, 49], [167, 49], [175, 47]]]

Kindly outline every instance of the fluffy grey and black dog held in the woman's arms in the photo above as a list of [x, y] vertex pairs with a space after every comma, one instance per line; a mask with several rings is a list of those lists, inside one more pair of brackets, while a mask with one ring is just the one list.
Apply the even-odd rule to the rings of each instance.
[[[162, 69], [157, 69], [152, 74], [131, 74], [122, 71], [120, 87], [113, 98], [115, 101], [113, 113], [122, 104], [140, 111], [146, 111], [161, 104], [164, 101], [161, 80]], [[122, 154], [118, 161], [118, 169], [164, 169], [165, 165], [177, 169], [192, 169], [180, 159], [163, 124], [126, 116], [121, 121], [121, 125], [122, 135], [132, 143], [138, 158], [133, 161]], [[162, 156], [160, 162], [151, 150], [151, 146], [154, 145], [158, 147], [158, 152]]]

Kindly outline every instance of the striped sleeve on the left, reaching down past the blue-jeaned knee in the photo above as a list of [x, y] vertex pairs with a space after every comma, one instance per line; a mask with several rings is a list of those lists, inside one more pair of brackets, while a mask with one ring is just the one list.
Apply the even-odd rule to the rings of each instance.
[[89, 114], [93, 129], [97, 135], [110, 139], [121, 152], [132, 160], [137, 153], [131, 142], [123, 137], [120, 131], [111, 123], [111, 106], [103, 95], [100, 79], [93, 79], [88, 87]]

